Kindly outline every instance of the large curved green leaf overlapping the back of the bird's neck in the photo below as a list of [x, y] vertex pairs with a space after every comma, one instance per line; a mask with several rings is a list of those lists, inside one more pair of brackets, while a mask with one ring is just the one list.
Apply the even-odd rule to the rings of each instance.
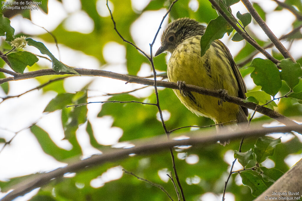
[[233, 27], [228, 24], [222, 16], [218, 16], [216, 19], [211, 20], [204, 35], [201, 36], [201, 56], [203, 56], [207, 49], [210, 48], [210, 45], [214, 40], [221, 39], [226, 32], [231, 32], [232, 30]]

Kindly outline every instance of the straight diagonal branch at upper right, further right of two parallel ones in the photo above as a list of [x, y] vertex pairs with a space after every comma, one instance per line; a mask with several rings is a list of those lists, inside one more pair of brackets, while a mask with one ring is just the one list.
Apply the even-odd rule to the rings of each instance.
[[268, 28], [265, 21], [262, 20], [260, 15], [257, 13], [255, 8], [252, 6], [252, 4], [249, 2], [249, 0], [241, 0], [241, 2], [245, 5], [249, 13], [252, 15], [252, 17], [256, 20], [256, 22], [259, 24], [259, 26], [262, 28], [262, 30], [265, 32], [265, 34], [268, 36], [268, 38], [271, 40], [272, 43], [274, 43], [275, 47], [279, 50], [279, 52], [282, 54], [284, 58], [290, 58], [292, 61], [296, 62], [294, 58], [291, 56], [291, 54], [287, 51], [287, 49], [282, 45], [280, 40], [275, 36], [275, 34]]

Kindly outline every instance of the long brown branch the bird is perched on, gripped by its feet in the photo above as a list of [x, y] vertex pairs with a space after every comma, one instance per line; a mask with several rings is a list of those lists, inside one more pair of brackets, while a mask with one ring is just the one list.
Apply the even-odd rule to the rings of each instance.
[[[154, 80], [145, 79], [142, 77], [135, 77], [135, 76], [130, 76], [130, 75], [114, 73], [114, 72], [110, 72], [110, 71], [101, 71], [101, 70], [93, 70], [93, 69], [74, 68], [74, 70], [76, 70], [80, 75], [109, 77], [109, 78], [113, 78], [113, 79], [117, 79], [117, 80], [124, 80], [127, 83], [138, 83], [138, 84], [149, 85], [149, 86], [154, 85]], [[53, 71], [52, 69], [43, 69], [43, 70], [32, 71], [32, 72], [28, 72], [28, 73], [24, 73], [24, 74], [18, 74], [18, 76], [15, 76], [15, 77], [7, 77], [7, 78], [0, 79], [0, 84], [8, 82], [8, 81], [24, 80], [24, 79], [40, 77], [40, 76], [44, 76], [44, 75], [64, 75], [64, 74], [67, 74], [67, 73], [65, 73], [65, 72], [58, 73], [58, 72]], [[177, 84], [174, 82], [157, 81], [156, 85], [159, 87], [177, 89]], [[221, 94], [217, 90], [209, 90], [209, 89], [205, 89], [203, 87], [194, 86], [194, 85], [190, 85], [190, 84], [186, 85], [186, 87], [191, 92], [196, 92], [196, 93], [200, 93], [200, 94], [207, 95], [207, 96], [221, 98]], [[254, 110], [255, 107], [257, 106], [255, 103], [252, 103], [252, 102], [245, 103], [245, 102], [243, 102], [243, 99], [240, 99], [238, 97], [229, 96], [229, 95], [226, 95], [225, 100], [227, 102], [232, 102], [232, 103], [244, 106], [244, 107], [252, 109], [252, 110]], [[285, 125], [297, 124], [294, 121], [290, 120], [289, 118], [285, 117], [284, 115], [281, 115], [278, 112], [273, 111], [266, 107], [257, 108], [257, 112], [259, 112], [263, 115], [266, 115], [270, 118], [276, 119], [277, 121], [279, 121]], [[297, 131], [297, 132], [300, 133], [300, 131]]]

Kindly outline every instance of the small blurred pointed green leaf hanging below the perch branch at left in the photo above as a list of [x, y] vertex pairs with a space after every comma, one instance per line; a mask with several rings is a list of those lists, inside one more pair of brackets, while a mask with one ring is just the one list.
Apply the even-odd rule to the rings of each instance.
[[66, 108], [67, 105], [72, 104], [72, 98], [75, 96], [74, 93], [61, 93], [53, 98], [43, 112], [53, 112], [55, 110], [60, 110]]

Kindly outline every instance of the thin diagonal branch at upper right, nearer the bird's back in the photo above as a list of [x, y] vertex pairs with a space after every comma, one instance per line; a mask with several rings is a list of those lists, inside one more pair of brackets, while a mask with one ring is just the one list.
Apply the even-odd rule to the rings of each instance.
[[261, 52], [266, 58], [271, 60], [274, 64], [278, 64], [280, 61], [272, 57], [268, 52], [265, 51], [254, 39], [250, 38], [245, 32], [243, 32], [230, 17], [223, 12], [215, 0], [209, 0], [214, 8], [221, 14], [221, 16], [247, 41], [249, 44], [254, 46], [259, 52]]

